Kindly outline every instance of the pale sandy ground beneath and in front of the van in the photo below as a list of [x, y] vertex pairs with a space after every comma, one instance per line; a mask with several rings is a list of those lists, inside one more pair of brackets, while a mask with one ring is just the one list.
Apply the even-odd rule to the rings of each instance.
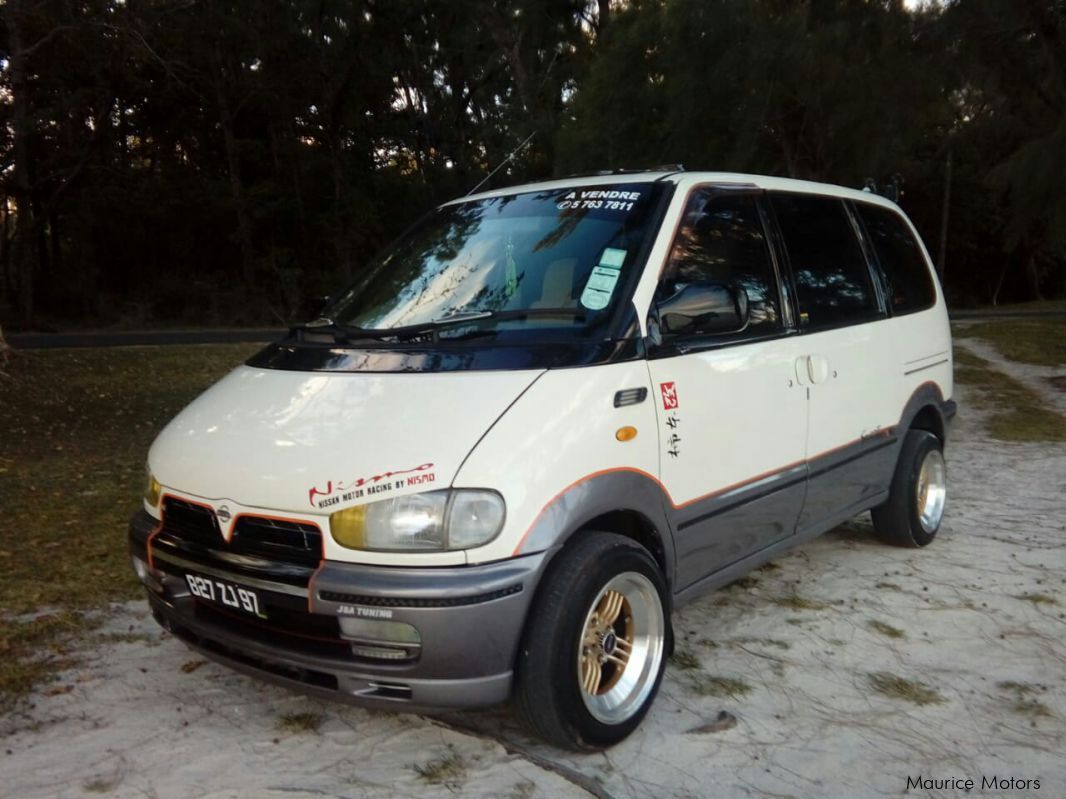
[[[544, 747], [504, 711], [433, 719], [308, 700], [203, 663], [132, 603], [107, 614], [119, 635], [62, 675], [68, 692], [0, 719], [0, 795], [853, 798], [922, 776], [1064, 796], [1066, 446], [985, 440], [957, 398], [937, 541], [883, 547], [858, 519], [687, 606], [688, 668], [671, 664], [642, 728], [607, 753]], [[884, 696], [878, 672], [938, 701]], [[738, 723], [694, 732], [720, 711]], [[317, 730], [278, 725], [305, 712]], [[1040, 787], [982, 792], [983, 777]]]

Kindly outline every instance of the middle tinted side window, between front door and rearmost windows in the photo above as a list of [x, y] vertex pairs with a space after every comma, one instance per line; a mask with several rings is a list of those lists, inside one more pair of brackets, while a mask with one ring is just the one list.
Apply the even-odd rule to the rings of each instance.
[[876, 319], [870, 270], [843, 201], [804, 194], [773, 195], [771, 201], [792, 264], [801, 327]]

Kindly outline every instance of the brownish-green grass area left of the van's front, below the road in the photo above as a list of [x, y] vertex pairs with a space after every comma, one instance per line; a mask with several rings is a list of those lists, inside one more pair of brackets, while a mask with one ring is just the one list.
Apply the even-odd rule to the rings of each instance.
[[0, 379], [0, 703], [47, 679], [71, 631], [13, 620], [141, 596], [127, 554], [148, 445], [258, 344], [16, 352]]

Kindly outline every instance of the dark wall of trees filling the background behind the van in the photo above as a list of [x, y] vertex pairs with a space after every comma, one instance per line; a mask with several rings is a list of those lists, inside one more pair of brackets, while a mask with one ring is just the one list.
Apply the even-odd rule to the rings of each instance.
[[306, 317], [422, 210], [685, 163], [899, 175], [958, 301], [1066, 290], [1055, 0], [9, 0], [0, 314]]

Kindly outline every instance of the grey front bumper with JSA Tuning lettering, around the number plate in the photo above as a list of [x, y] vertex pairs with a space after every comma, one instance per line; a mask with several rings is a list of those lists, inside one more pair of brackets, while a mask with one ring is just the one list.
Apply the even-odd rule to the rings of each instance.
[[[207, 657], [305, 692], [390, 710], [475, 707], [511, 694], [545, 553], [454, 568], [327, 560], [304, 582], [284, 567], [276, 578], [262, 564], [252, 572], [224, 552], [175, 556], [151, 545], [157, 524], [143, 510], [130, 523], [131, 554], [151, 564], [142, 582], [152, 615]], [[254, 589], [270, 620], [193, 597], [187, 573]], [[420, 646], [402, 661], [357, 655], [352, 645], [359, 641], [341, 629], [345, 618], [410, 624]]]

